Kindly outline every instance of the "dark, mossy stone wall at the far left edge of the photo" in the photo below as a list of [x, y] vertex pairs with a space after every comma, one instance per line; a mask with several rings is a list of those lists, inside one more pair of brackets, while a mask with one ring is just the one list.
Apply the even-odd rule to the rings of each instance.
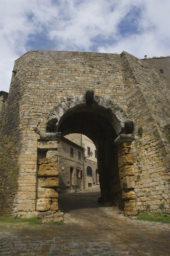
[[12, 215], [13, 210], [16, 210], [14, 199], [18, 173], [17, 143], [14, 143], [14, 136], [8, 131], [11, 126], [8, 124], [7, 115], [4, 115], [8, 112], [7, 97], [8, 93], [0, 92], [0, 215]]

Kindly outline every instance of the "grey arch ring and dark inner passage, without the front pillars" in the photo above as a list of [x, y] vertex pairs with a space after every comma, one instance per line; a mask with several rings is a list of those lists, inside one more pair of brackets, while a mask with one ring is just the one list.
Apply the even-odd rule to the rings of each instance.
[[53, 132], [60, 132], [62, 137], [70, 133], [81, 133], [94, 142], [101, 189], [99, 202], [111, 202], [124, 209], [117, 145], [114, 141], [122, 133], [132, 133], [133, 122], [113, 102], [99, 96], [97, 99], [98, 103], [91, 105], [85, 104], [83, 96], [79, 96], [79, 100], [73, 97], [64, 101], [54, 108], [49, 116], [47, 128], [49, 129], [50, 123], [54, 125], [55, 122], [51, 120], [55, 118], [57, 122]]

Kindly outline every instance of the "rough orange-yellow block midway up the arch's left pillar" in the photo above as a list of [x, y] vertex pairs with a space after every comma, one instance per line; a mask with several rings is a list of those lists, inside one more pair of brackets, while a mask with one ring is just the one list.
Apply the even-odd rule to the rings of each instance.
[[43, 163], [39, 166], [38, 176], [58, 175], [58, 163]]

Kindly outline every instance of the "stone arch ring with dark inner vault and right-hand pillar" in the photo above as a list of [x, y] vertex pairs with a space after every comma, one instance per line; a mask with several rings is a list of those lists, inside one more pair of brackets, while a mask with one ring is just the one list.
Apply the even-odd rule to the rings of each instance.
[[85, 96], [74, 96], [58, 104], [49, 115], [46, 132], [58, 137], [69, 133], [88, 136], [97, 149], [100, 201], [111, 202], [126, 214], [133, 214], [133, 122], [119, 106], [88, 90]]

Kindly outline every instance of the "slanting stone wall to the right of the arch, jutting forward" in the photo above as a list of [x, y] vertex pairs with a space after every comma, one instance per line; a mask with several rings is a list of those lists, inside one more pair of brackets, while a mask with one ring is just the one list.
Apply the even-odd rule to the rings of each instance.
[[154, 67], [126, 53], [121, 57], [128, 114], [137, 135], [130, 151], [135, 167], [136, 208], [155, 213], [164, 204], [169, 212], [170, 147], [164, 127], [170, 123], [170, 98]]

